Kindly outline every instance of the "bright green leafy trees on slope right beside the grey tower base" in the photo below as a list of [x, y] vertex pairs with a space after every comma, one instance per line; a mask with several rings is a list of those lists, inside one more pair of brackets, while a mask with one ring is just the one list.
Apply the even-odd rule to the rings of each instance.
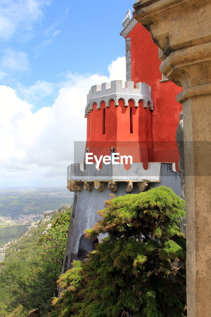
[[37, 256], [28, 282], [25, 306], [39, 307], [43, 314], [52, 308], [58, 295], [57, 279], [61, 274], [69, 227], [70, 211], [61, 214], [49, 233], [39, 240]]

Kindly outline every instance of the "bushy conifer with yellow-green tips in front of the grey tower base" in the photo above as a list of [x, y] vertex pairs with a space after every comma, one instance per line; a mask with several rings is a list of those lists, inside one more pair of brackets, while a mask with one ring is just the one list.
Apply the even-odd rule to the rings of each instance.
[[[107, 233], [86, 262], [61, 275], [65, 288], [51, 317], [181, 317], [186, 307], [185, 260], [179, 218], [184, 201], [160, 186], [105, 201], [86, 237]], [[173, 264], [174, 263], [174, 264]]]

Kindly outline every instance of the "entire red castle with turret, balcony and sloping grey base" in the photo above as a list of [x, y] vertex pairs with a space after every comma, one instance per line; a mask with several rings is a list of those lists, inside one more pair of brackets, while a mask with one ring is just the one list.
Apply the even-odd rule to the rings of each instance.
[[[150, 33], [131, 19], [130, 11], [123, 27], [127, 81], [91, 87], [85, 108], [85, 151], [99, 158], [110, 155], [114, 146], [120, 155], [131, 155], [133, 164], [96, 168], [81, 161], [68, 166], [67, 188], [74, 191], [74, 198], [62, 272], [93, 250], [84, 230], [100, 219], [97, 211], [104, 208], [111, 191], [120, 196], [166, 185], [181, 195], [175, 170], [179, 159], [175, 134], [182, 110], [175, 97], [181, 88], [162, 78], [157, 46]], [[95, 242], [102, 238], [99, 235]]]

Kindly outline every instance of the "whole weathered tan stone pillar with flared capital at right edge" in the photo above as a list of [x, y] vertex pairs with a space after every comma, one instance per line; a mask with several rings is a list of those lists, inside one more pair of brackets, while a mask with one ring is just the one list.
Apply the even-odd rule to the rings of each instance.
[[139, 0], [134, 9], [160, 48], [161, 72], [183, 87], [188, 317], [208, 317], [211, 1]]

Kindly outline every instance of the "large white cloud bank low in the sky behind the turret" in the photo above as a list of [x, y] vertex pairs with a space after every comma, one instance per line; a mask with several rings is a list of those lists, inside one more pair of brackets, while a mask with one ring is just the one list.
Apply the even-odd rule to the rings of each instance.
[[[1, 186], [65, 185], [74, 141], [86, 140], [86, 95], [93, 85], [114, 77], [124, 80], [122, 68], [125, 59], [118, 58], [109, 66], [109, 78], [97, 74], [71, 78], [69, 74], [52, 107], [42, 107], [36, 113], [12, 88], [0, 86]], [[38, 81], [26, 94], [45, 94], [52, 85]]]

